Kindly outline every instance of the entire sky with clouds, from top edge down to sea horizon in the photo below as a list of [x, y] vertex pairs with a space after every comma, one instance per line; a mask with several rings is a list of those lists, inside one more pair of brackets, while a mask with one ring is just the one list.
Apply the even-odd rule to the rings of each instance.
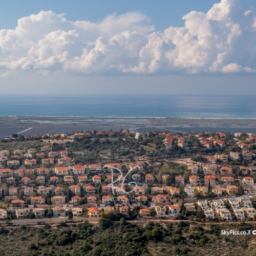
[[10, 0], [2, 94], [256, 94], [255, 0]]

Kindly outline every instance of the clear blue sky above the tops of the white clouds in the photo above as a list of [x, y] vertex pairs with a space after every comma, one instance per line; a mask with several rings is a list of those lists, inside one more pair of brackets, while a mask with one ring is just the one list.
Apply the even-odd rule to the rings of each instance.
[[[181, 27], [184, 25], [182, 16], [190, 11], [207, 12], [216, 0], [9, 0], [1, 1], [0, 28], [14, 29], [17, 20], [41, 10], [52, 10], [56, 13], [66, 13], [68, 20], [90, 20], [98, 22], [105, 16], [116, 12], [140, 11], [151, 18], [156, 30], [163, 30], [169, 26]], [[255, 0], [241, 1], [246, 9], [256, 10]], [[26, 4], [24, 4], [26, 3]], [[10, 11], [11, 10], [11, 11]]]

